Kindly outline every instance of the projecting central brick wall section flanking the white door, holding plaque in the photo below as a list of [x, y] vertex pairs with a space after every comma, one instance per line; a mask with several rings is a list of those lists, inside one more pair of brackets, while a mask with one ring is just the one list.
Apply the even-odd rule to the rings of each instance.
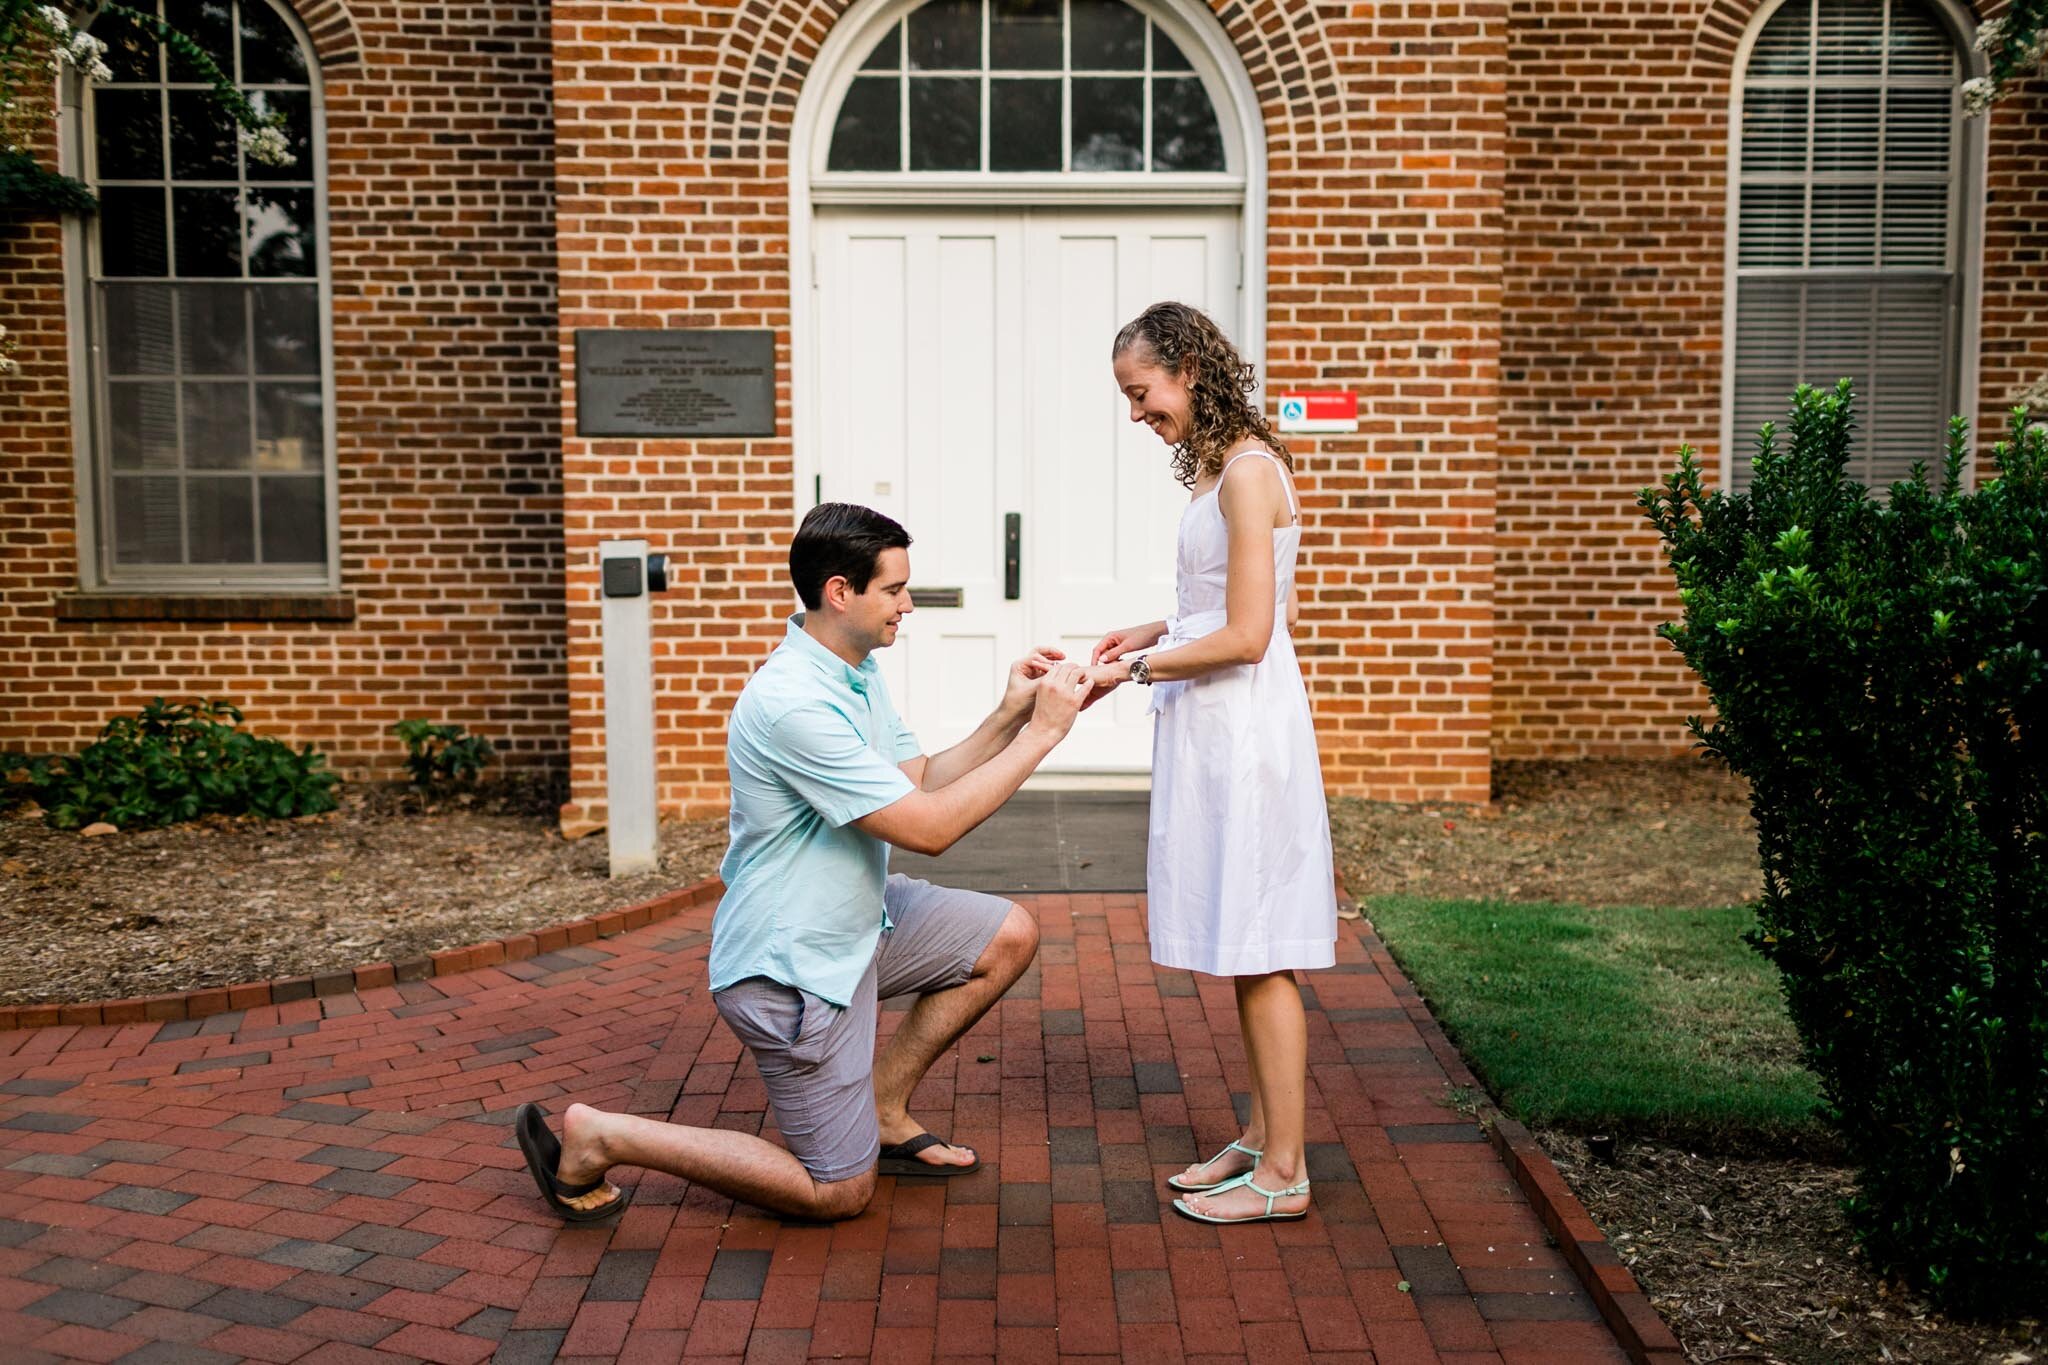
[[[596, 542], [649, 534], [662, 802], [725, 802], [723, 726], [788, 612], [786, 438], [573, 430], [578, 327], [772, 327], [788, 432], [788, 137], [842, 6], [555, 4], [573, 804], [602, 819]], [[1296, 446], [1300, 649], [1333, 792], [1487, 796], [1505, 6], [1223, 4], [1268, 129], [1268, 379], [1354, 387]], [[915, 530], [915, 528], [913, 528]]]

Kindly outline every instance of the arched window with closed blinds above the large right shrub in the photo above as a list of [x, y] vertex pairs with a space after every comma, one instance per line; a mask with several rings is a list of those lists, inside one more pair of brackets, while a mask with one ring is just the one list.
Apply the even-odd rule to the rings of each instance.
[[1849, 477], [1937, 463], [1962, 405], [1968, 133], [1962, 49], [1923, 0], [1786, 0], [1739, 82], [1726, 448], [1798, 383], [1855, 383]]

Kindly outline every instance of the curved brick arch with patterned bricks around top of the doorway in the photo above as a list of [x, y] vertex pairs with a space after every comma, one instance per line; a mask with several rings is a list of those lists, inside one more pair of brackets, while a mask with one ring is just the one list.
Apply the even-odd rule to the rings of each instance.
[[[797, 96], [825, 35], [848, 8], [846, 0], [803, 6], [748, 0], [735, 10], [702, 106], [707, 160], [760, 162], [786, 151]], [[1341, 78], [1331, 45], [1331, 29], [1346, 23], [1350, 6], [1227, 0], [1208, 10], [1251, 78], [1274, 145], [1298, 156], [1352, 147], [1366, 125], [1366, 100]]]

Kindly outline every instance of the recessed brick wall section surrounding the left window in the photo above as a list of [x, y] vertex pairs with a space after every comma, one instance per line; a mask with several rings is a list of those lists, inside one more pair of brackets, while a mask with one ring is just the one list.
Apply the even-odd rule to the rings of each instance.
[[352, 620], [63, 620], [78, 587], [59, 233], [0, 225], [0, 749], [219, 696], [350, 776], [403, 716], [565, 745], [547, 6], [301, 6], [326, 78], [342, 591]]

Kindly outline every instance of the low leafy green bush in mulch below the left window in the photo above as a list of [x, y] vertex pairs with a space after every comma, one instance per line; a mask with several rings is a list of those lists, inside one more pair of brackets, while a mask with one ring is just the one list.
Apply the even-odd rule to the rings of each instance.
[[227, 702], [150, 702], [115, 716], [68, 757], [6, 755], [10, 790], [33, 796], [49, 823], [172, 825], [201, 814], [293, 817], [334, 808], [326, 757], [250, 735]]

